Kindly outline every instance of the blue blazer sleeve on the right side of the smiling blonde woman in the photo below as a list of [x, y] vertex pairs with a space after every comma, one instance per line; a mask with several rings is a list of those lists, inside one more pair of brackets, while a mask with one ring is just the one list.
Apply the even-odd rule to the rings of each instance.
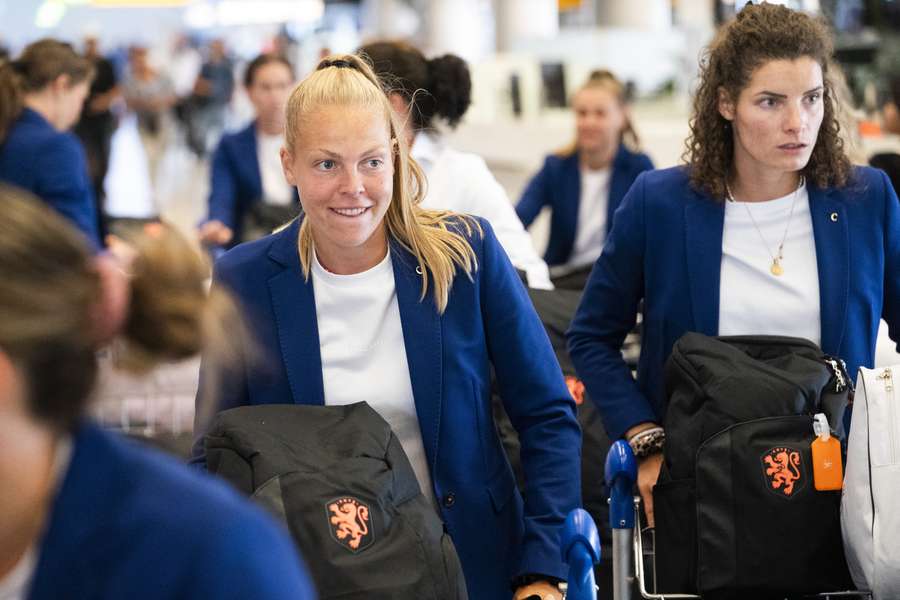
[[487, 223], [481, 257], [482, 321], [500, 397], [522, 444], [525, 535], [518, 573], [565, 579], [559, 549], [566, 515], [581, 505], [581, 430], [547, 333]]

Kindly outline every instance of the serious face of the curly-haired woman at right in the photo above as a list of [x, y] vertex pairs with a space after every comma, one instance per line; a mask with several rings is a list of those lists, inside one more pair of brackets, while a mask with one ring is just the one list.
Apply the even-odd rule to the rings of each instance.
[[825, 110], [822, 68], [809, 57], [773, 60], [753, 73], [737, 102], [720, 95], [731, 121], [740, 176], [780, 175], [809, 162]]

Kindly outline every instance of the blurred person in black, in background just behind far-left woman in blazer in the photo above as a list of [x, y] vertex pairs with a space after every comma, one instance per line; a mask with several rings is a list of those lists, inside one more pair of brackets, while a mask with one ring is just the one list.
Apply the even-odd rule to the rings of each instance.
[[105, 238], [107, 227], [106, 212], [103, 209], [103, 180], [109, 169], [109, 152], [116, 129], [116, 118], [111, 108], [119, 97], [119, 86], [113, 65], [100, 54], [100, 41], [95, 36], [85, 38], [84, 57], [94, 65], [94, 80], [81, 109], [81, 119], [75, 125], [75, 135], [81, 140], [87, 155], [88, 172], [97, 202], [97, 229], [100, 237]]

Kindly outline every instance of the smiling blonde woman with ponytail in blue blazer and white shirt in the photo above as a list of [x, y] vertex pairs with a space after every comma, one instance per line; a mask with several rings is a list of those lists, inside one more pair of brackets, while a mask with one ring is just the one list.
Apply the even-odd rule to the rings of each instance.
[[[418, 206], [425, 182], [402, 132], [358, 56], [323, 60], [295, 88], [282, 161], [303, 216], [216, 264], [214, 286], [240, 301], [265, 356], [229, 371], [245, 378], [226, 378], [216, 409], [367, 401], [444, 521], [469, 598], [511, 598], [512, 584], [517, 599], [559, 599], [559, 531], [581, 494], [574, 401], [490, 225]], [[524, 499], [494, 427], [492, 368]]]

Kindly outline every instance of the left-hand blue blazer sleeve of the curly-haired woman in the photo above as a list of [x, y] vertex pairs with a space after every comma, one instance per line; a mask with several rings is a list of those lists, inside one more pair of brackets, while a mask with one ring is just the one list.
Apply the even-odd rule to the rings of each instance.
[[614, 440], [634, 425], [657, 420], [622, 358], [644, 296], [645, 181], [639, 176], [622, 199], [566, 334], [575, 370]]

